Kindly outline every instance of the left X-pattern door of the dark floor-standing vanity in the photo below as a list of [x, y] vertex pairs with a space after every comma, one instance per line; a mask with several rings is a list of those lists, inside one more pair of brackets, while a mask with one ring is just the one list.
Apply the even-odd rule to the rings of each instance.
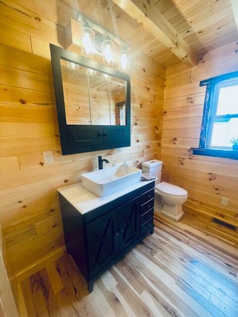
[[86, 224], [89, 275], [94, 276], [118, 255], [118, 210]]

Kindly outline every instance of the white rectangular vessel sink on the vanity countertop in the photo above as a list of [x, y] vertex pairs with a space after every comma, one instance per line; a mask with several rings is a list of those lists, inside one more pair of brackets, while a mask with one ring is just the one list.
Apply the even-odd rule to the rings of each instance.
[[83, 187], [99, 197], [117, 192], [140, 181], [141, 169], [117, 165], [82, 174]]

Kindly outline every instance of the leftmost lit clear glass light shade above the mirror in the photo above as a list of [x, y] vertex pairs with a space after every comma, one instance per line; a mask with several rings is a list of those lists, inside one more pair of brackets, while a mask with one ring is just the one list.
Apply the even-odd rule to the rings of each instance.
[[84, 56], [92, 57], [94, 56], [95, 50], [95, 33], [92, 29], [84, 26], [81, 29], [81, 53]]

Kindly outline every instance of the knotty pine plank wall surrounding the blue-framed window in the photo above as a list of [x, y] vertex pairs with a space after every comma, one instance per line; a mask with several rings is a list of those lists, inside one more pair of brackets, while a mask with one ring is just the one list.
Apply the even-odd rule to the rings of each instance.
[[[206, 87], [203, 79], [238, 71], [238, 42], [199, 56], [197, 67], [167, 68], [163, 116], [163, 180], [188, 191], [185, 211], [202, 212], [238, 225], [238, 161], [193, 156], [198, 147]], [[222, 197], [230, 199], [228, 207]]]

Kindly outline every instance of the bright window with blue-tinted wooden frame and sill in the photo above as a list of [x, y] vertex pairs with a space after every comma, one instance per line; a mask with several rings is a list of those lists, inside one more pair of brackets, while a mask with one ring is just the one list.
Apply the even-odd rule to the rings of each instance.
[[230, 142], [238, 139], [238, 72], [200, 82], [207, 86], [199, 149], [195, 155], [238, 159]]

